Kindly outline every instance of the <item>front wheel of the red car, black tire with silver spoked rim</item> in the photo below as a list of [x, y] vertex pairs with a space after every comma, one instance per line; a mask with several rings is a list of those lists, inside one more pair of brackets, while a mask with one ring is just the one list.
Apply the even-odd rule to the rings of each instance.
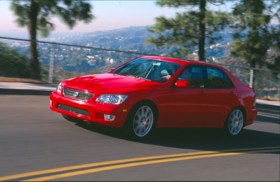
[[156, 112], [151, 105], [134, 106], [125, 121], [124, 128], [129, 137], [147, 138], [156, 127]]

